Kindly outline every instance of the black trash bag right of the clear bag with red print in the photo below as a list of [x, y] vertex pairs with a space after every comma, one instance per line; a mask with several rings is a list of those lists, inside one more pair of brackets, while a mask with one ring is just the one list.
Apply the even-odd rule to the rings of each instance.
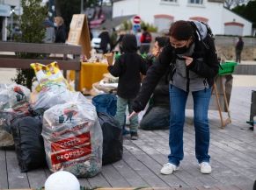
[[122, 158], [122, 131], [113, 116], [97, 112], [103, 134], [102, 164], [110, 164]]

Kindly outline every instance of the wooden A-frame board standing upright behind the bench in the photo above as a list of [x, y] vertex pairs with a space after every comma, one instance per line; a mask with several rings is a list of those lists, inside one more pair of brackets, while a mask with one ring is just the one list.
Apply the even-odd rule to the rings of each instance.
[[75, 14], [70, 23], [69, 38], [66, 42], [71, 45], [81, 45], [82, 53], [91, 57], [91, 39], [87, 18], [84, 14]]

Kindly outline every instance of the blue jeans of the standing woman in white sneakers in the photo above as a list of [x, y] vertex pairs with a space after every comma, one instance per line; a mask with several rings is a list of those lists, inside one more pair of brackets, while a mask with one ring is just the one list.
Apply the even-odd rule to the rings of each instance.
[[[169, 162], [179, 165], [184, 157], [183, 151], [183, 127], [185, 122], [185, 109], [188, 93], [182, 89], [170, 86], [170, 136], [169, 146], [171, 154]], [[211, 96], [211, 88], [192, 92], [194, 100], [194, 130], [195, 130], [195, 157], [198, 162], [209, 162], [209, 127], [208, 127], [208, 103]]]

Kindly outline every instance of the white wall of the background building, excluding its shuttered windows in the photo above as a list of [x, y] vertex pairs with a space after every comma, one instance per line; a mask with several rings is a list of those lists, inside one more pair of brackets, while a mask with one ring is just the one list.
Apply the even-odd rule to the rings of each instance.
[[[230, 13], [235, 15], [232, 12]], [[208, 25], [214, 34], [224, 33], [223, 24], [232, 21], [226, 18], [231, 17], [230, 13], [226, 13], [222, 3], [212, 3], [207, 0], [203, 0], [201, 5], [187, 4], [187, 0], [177, 0], [177, 3], [161, 2], [160, 0], [123, 0], [113, 4], [113, 18], [134, 14], [139, 15], [144, 22], [152, 25], [154, 24], [154, 15], [157, 14], [171, 15], [174, 17], [174, 21], [179, 19], [187, 20], [191, 17], [208, 18]], [[236, 18], [237, 22], [240, 19], [243, 20], [241, 23], [246, 25], [244, 35], [249, 35], [247, 34], [248, 28], [252, 30], [252, 24], [248, 25], [249, 22], [239, 16]]]

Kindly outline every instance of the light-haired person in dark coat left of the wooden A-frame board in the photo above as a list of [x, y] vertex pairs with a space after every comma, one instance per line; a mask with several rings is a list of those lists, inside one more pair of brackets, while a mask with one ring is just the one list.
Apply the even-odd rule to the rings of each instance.
[[66, 27], [62, 17], [55, 17], [55, 43], [65, 43], [67, 39]]

